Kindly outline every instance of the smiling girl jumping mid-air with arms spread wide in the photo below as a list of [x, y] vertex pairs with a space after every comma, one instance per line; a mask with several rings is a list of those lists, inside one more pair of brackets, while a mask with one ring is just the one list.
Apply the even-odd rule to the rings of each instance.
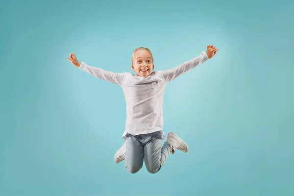
[[166, 85], [178, 76], [194, 69], [212, 58], [218, 51], [207, 46], [197, 57], [166, 71], [153, 71], [154, 60], [147, 48], [137, 48], [132, 55], [132, 70], [136, 73], [113, 73], [85, 62], [79, 63], [75, 54], [67, 59], [86, 73], [122, 87], [126, 100], [126, 123], [123, 132], [125, 143], [115, 154], [115, 162], [125, 160], [125, 168], [130, 173], [138, 172], [145, 160], [147, 171], [158, 172], [170, 153], [175, 149], [188, 152], [187, 144], [175, 133], [170, 132], [167, 141], [163, 132], [163, 96]]

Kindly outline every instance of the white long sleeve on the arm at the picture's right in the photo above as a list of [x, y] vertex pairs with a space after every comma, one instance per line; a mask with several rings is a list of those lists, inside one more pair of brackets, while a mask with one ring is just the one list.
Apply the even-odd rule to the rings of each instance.
[[159, 71], [159, 73], [164, 77], [166, 82], [170, 82], [173, 79], [179, 77], [180, 75], [196, 68], [196, 66], [204, 63], [208, 60], [208, 56], [205, 51], [202, 51], [201, 54], [189, 61], [184, 62], [183, 64], [174, 67], [169, 70]]

